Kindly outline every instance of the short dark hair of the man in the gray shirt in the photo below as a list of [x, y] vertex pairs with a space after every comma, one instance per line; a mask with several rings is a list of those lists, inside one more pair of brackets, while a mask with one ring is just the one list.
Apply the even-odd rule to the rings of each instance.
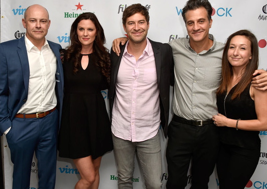
[[210, 21], [212, 14], [212, 6], [208, 0], [188, 0], [182, 10], [182, 16], [184, 22], [186, 23], [185, 14], [188, 10], [195, 10], [201, 7], [204, 7], [207, 10], [207, 17], [208, 20]]

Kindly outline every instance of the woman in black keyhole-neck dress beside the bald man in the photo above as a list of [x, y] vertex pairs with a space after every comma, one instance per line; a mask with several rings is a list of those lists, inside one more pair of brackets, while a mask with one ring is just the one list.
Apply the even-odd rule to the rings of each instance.
[[98, 188], [101, 157], [113, 149], [110, 120], [101, 90], [108, 88], [110, 56], [104, 30], [91, 12], [71, 26], [64, 51], [64, 101], [59, 156], [72, 158], [81, 179], [75, 188]]

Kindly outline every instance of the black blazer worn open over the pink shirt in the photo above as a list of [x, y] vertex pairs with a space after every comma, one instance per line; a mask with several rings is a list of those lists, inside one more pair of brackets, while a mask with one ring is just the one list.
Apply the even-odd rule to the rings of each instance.
[[[169, 106], [170, 106], [170, 84], [173, 85], [174, 82], [174, 72], [173, 72], [173, 57], [172, 50], [169, 44], [155, 42], [150, 40], [150, 43], [153, 48], [156, 71], [157, 71], [157, 80], [159, 86], [159, 97], [160, 97], [160, 119], [161, 126], [164, 129], [164, 135], [167, 137], [167, 127], [169, 120]], [[118, 75], [118, 70], [120, 67], [120, 62], [122, 58], [123, 51], [126, 45], [121, 45], [121, 53], [119, 56], [111, 49], [111, 81], [109, 88], [109, 109], [110, 117], [112, 117], [112, 107], [114, 103], [114, 97], [116, 95], [116, 80]], [[112, 120], [111, 120], [112, 121]]]

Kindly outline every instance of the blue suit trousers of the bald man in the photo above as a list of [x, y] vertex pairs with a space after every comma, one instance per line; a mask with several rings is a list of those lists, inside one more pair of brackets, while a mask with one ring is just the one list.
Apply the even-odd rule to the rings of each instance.
[[42, 118], [17, 118], [7, 133], [14, 163], [13, 188], [29, 189], [34, 152], [38, 160], [39, 189], [54, 189], [56, 182], [59, 113]]

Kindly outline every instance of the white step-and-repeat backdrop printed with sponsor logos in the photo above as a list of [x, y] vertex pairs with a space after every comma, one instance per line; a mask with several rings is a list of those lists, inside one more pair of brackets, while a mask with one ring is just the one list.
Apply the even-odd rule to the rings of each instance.
[[[114, 38], [125, 34], [122, 27], [122, 12], [130, 4], [140, 2], [149, 9], [150, 28], [148, 37], [160, 42], [168, 42], [174, 38], [186, 37], [185, 24], [181, 16], [186, 0], [1, 0], [1, 42], [20, 38], [25, 35], [22, 18], [26, 8], [31, 4], [45, 6], [50, 14], [51, 26], [47, 39], [58, 42], [62, 47], [69, 44], [70, 27], [74, 19], [83, 12], [94, 12], [102, 24], [107, 38], [106, 46], [111, 48]], [[267, 0], [210, 0], [213, 6], [213, 23], [210, 29], [217, 41], [225, 42], [226, 37], [239, 29], [251, 30], [258, 39], [260, 52], [259, 68], [267, 67]], [[103, 91], [107, 99], [107, 91]], [[106, 101], [107, 102], [107, 101]], [[108, 103], [107, 103], [108, 104]], [[171, 118], [170, 118], [171, 119]], [[162, 132], [161, 132], [162, 133]], [[267, 188], [267, 131], [260, 132], [261, 155], [257, 169], [246, 188]], [[168, 179], [165, 159], [166, 139], [161, 134], [163, 158], [163, 188]], [[2, 137], [4, 159], [5, 186], [12, 188], [12, 162], [10, 150], [5, 137]], [[30, 189], [37, 189], [37, 160], [33, 159]], [[244, 164], [244, 166], [246, 166]], [[79, 179], [79, 172], [72, 160], [58, 158], [56, 189], [74, 188]], [[113, 153], [103, 156], [100, 167], [99, 188], [117, 188], [117, 170]], [[145, 188], [144, 180], [136, 162], [133, 177], [134, 188]], [[216, 171], [210, 177], [209, 188], [218, 188]], [[231, 184], [231, 183], [229, 183]], [[190, 172], [188, 185], [190, 187]]]

